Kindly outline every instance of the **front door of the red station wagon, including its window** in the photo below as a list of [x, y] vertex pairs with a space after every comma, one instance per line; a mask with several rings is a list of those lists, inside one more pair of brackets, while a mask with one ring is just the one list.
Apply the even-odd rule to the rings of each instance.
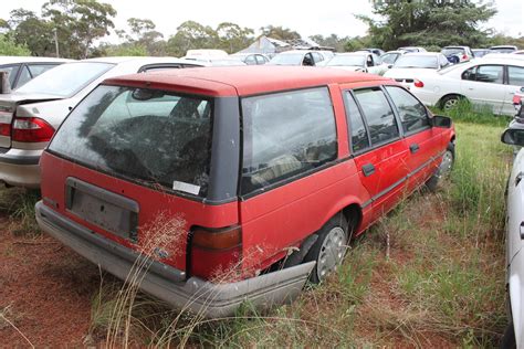
[[434, 171], [431, 166], [441, 150], [441, 129], [432, 128], [428, 109], [413, 95], [399, 86], [386, 86], [399, 117], [409, 149], [409, 188], [415, 189]]

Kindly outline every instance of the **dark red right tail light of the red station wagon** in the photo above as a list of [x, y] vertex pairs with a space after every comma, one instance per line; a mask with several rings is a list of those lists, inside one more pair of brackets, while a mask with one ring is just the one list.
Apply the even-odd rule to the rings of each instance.
[[195, 228], [189, 248], [191, 275], [205, 279], [238, 276], [242, 258], [240, 226]]

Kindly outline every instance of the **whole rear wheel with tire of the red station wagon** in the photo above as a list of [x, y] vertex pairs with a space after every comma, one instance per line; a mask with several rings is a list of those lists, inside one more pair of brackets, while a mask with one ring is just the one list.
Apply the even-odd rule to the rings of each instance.
[[347, 231], [347, 221], [339, 213], [317, 232], [318, 239], [304, 257], [304, 262], [316, 262], [310, 275], [311, 283], [322, 283], [342, 264], [349, 241]]

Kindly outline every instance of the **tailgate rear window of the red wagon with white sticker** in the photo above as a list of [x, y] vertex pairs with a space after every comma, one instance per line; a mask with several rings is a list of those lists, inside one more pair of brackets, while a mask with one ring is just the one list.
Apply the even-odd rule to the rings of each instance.
[[205, 197], [211, 99], [98, 86], [66, 118], [49, 149], [109, 174]]

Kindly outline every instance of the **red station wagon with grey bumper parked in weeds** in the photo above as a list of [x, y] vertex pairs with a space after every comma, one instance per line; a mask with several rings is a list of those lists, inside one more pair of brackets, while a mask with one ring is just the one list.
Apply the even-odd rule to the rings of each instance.
[[228, 316], [322, 282], [352, 236], [451, 169], [454, 138], [449, 118], [376, 75], [249, 66], [111, 78], [44, 151], [36, 220], [123, 279], [142, 263], [145, 292]]

